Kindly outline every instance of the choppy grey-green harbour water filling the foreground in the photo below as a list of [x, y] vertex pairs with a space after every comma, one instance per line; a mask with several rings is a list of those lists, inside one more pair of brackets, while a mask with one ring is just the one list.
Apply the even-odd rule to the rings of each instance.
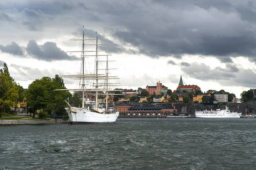
[[255, 170], [256, 119], [0, 126], [0, 170]]

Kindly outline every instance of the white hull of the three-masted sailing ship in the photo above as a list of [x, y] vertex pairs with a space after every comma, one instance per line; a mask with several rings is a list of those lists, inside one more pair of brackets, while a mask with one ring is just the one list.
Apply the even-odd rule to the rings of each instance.
[[99, 124], [99, 123], [115, 123], [119, 112], [111, 113], [98, 113], [94, 111], [89, 111], [81, 108], [73, 108], [76, 112], [72, 113], [69, 108], [66, 108], [70, 124]]

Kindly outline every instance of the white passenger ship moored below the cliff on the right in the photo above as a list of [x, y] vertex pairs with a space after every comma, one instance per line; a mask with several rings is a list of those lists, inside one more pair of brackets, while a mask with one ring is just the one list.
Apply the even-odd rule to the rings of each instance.
[[224, 110], [217, 109], [216, 111], [195, 111], [195, 117], [199, 118], [240, 118], [241, 115], [242, 113], [230, 112], [227, 106]]

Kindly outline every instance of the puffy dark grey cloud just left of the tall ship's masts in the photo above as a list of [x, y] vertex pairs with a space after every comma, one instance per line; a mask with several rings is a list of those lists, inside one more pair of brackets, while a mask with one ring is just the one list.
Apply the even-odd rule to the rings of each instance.
[[38, 45], [35, 40], [30, 40], [26, 46], [26, 52], [35, 59], [45, 61], [74, 59], [58, 48], [55, 42], [45, 42], [44, 45]]

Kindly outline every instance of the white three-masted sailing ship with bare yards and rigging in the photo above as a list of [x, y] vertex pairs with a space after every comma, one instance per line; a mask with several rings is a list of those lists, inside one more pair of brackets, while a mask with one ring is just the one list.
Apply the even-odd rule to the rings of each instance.
[[[82, 108], [72, 107], [67, 101], [68, 107], [65, 108], [67, 111], [67, 114], [70, 119], [70, 124], [99, 124], [99, 123], [114, 123], [116, 122], [116, 119], [119, 116], [119, 112], [116, 108], [114, 108], [114, 105], [111, 105], [112, 107], [108, 107], [108, 96], [114, 95], [114, 91], [120, 91], [120, 90], [114, 90], [113, 87], [120, 85], [119, 82], [113, 82], [117, 79], [119, 79], [116, 76], [109, 76], [109, 70], [116, 69], [116, 68], [108, 68], [108, 56], [111, 56], [110, 54], [107, 54], [108, 51], [105, 51], [104, 54], [100, 54], [99, 52], [99, 46], [100, 45], [108, 45], [108, 44], [99, 44], [98, 43], [98, 36], [96, 32], [96, 39], [84, 39], [84, 26], [83, 26], [83, 38], [82, 39], [73, 39], [75, 41], [82, 41], [82, 50], [81, 51], [66, 51], [66, 52], [81, 52], [81, 73], [77, 75], [62, 75], [61, 77], [65, 78], [73, 78], [73, 79], [79, 79], [79, 88], [74, 89], [66, 89], [69, 91], [82, 91]], [[88, 44], [86, 41], [96, 41], [94, 44]], [[94, 50], [88, 50], [87, 46], [96, 46], [96, 51]], [[89, 48], [90, 48], [89, 47]], [[84, 67], [86, 66], [85, 57], [95, 57], [95, 68], [93, 69], [93, 72], [85, 73]], [[99, 60], [99, 57], [105, 57], [105, 60]], [[99, 65], [99, 62], [105, 62], [105, 68], [100, 68], [101, 65]], [[88, 66], [88, 65], [87, 65]], [[102, 71], [102, 72], [100, 72]], [[105, 73], [104, 73], [105, 71]], [[109, 82], [109, 81], [112, 82]], [[89, 84], [87, 84], [89, 83]], [[60, 89], [62, 90], [62, 89]], [[90, 107], [87, 104], [88, 101], [85, 101], [84, 93], [92, 93], [91, 95], [96, 95], [95, 102], [90, 102]], [[98, 103], [98, 95], [99, 92], [101, 95], [105, 95], [105, 108], [102, 107], [102, 105], [99, 105]], [[116, 95], [116, 94], [115, 94]]]

